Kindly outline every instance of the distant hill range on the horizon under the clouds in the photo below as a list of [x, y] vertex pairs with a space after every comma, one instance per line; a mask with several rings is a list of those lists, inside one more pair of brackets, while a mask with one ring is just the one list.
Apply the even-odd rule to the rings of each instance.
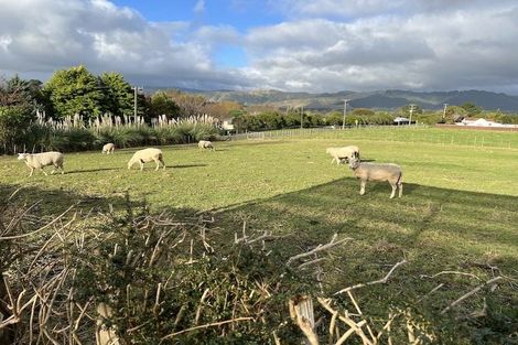
[[[148, 91], [158, 88], [147, 88]], [[161, 88], [164, 89], [164, 88]], [[257, 90], [194, 90], [182, 89], [185, 93], [202, 94], [213, 101], [231, 100], [244, 105], [271, 105], [274, 107], [301, 107], [314, 110], [343, 109], [344, 99], [348, 99], [352, 108], [395, 109], [409, 104], [417, 104], [423, 109], [442, 109], [444, 104], [460, 106], [473, 103], [486, 110], [518, 112], [518, 96], [497, 94], [484, 90], [453, 90], [416, 93], [409, 90], [377, 90], [359, 93], [344, 90], [339, 93], [289, 93], [273, 89]]]

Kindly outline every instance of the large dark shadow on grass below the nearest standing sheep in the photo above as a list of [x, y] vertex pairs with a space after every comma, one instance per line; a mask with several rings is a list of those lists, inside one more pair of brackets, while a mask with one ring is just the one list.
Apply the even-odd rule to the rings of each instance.
[[[353, 272], [347, 281], [373, 280], [366, 266], [393, 265], [404, 257], [407, 272], [416, 276], [487, 262], [516, 273], [517, 197], [404, 184], [403, 196], [390, 200], [390, 191], [388, 183], [367, 183], [360, 196], [358, 181], [346, 177], [215, 212], [223, 228], [246, 222], [250, 231], [292, 234], [280, 249], [287, 256], [324, 244], [333, 234], [352, 237], [355, 245], [336, 259], [337, 268]], [[339, 279], [335, 289], [343, 283]]]

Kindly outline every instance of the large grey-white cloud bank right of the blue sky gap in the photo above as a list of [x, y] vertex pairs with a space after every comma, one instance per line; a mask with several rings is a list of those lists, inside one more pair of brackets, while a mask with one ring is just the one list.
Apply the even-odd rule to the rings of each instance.
[[246, 39], [252, 62], [246, 71], [281, 89], [488, 88], [516, 94], [517, 11], [493, 6], [257, 28]]

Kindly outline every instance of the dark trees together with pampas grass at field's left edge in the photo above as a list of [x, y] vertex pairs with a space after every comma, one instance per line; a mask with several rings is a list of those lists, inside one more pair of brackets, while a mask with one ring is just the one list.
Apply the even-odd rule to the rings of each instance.
[[174, 89], [145, 95], [120, 73], [95, 76], [85, 66], [57, 71], [46, 83], [14, 76], [0, 79], [0, 153], [211, 139], [217, 118], [239, 107]]

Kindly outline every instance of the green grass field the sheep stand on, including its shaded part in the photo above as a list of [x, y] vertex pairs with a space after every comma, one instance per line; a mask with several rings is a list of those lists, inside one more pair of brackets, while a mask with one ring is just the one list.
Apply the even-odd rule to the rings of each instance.
[[[423, 313], [436, 314], [496, 273], [518, 278], [518, 151], [505, 144], [427, 142], [427, 133], [416, 130], [408, 142], [361, 136], [360, 131], [346, 132], [343, 138], [218, 142], [215, 152], [198, 151], [194, 145], [163, 147], [165, 171], [154, 171], [154, 163], [147, 164], [143, 172], [137, 166], [127, 170], [134, 149], [118, 150], [114, 155], [66, 154], [66, 173], [52, 176], [36, 172], [29, 177], [22, 162], [3, 157], [0, 196], [22, 187], [19, 197], [43, 200], [40, 207], [44, 213], [58, 214], [79, 201], [85, 209], [108, 204], [118, 207], [128, 192], [132, 201], [145, 200], [157, 211], [211, 212], [216, 226], [227, 229], [229, 240], [244, 222], [250, 233], [288, 235], [278, 248], [281, 258], [338, 234], [353, 240], [328, 255], [323, 265], [327, 294], [380, 279], [406, 258], [408, 263], [388, 284], [358, 291], [364, 311], [373, 317], [386, 316], [389, 305], [404, 301]], [[446, 137], [456, 132], [433, 133]], [[499, 142], [499, 134], [501, 142], [515, 142], [518, 137], [487, 136]], [[364, 160], [402, 166], [402, 198], [388, 198], [388, 183], [368, 183], [367, 194], [358, 194], [358, 182], [347, 166], [332, 165], [325, 154], [326, 147], [350, 143], [360, 148]], [[472, 276], [432, 277], [441, 271]], [[444, 283], [442, 289], [417, 302], [440, 283]], [[506, 327], [518, 325], [516, 280], [499, 284], [496, 293], [483, 290], [457, 311], [467, 315], [482, 309], [484, 300], [493, 314], [478, 320], [476, 328], [494, 330], [495, 324], [504, 326], [500, 322]], [[458, 330], [471, 322], [462, 320], [455, 326]], [[463, 338], [458, 344], [467, 343]]]

